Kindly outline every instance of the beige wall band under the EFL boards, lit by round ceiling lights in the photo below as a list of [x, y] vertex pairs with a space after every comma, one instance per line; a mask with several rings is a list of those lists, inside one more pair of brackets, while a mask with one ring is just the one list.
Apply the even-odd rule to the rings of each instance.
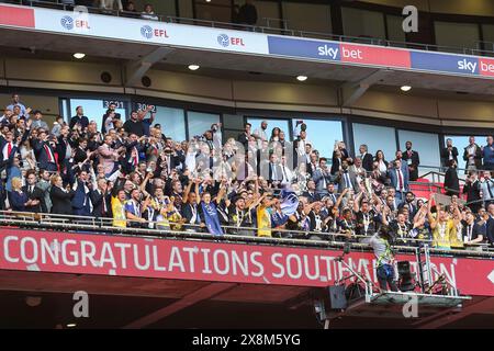
[[[2, 70], [3, 66], [5, 71]], [[110, 84], [101, 81], [102, 71], [113, 76]], [[330, 86], [232, 81], [160, 70], [150, 70], [148, 76], [153, 80], [149, 89], [142, 86], [124, 89], [120, 86], [119, 66], [29, 59], [5, 59], [4, 65], [0, 61], [0, 84], [9, 87], [102, 93], [125, 91], [127, 94], [237, 109], [345, 113], [430, 125], [494, 127], [493, 101], [447, 100], [371, 89], [351, 109], [341, 109], [338, 106], [337, 88]], [[22, 100], [30, 106], [44, 109], [47, 115], [59, 114], [57, 99], [53, 95], [23, 94]], [[9, 95], [0, 95], [0, 106], [9, 101]]]

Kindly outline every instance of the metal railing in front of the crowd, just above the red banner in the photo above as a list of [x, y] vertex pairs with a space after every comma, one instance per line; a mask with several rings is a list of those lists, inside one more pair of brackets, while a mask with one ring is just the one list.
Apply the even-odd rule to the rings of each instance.
[[[125, 222], [128, 225], [127, 227], [115, 227], [113, 226], [113, 218], [101, 217], [0, 211], [0, 226], [3, 227], [42, 228], [47, 230], [76, 231], [80, 234], [94, 233], [133, 237], [138, 235], [148, 238], [201, 239], [333, 249], [343, 249], [344, 246], [349, 242], [352, 250], [370, 251], [369, 245], [360, 242], [361, 239], [369, 238], [369, 236], [363, 235], [352, 235], [351, 239], [347, 239], [345, 233], [262, 228], [260, 230], [270, 230], [272, 235], [278, 235], [278, 237], [258, 237], [257, 231], [259, 228], [257, 227], [222, 226], [225, 234], [217, 236], [204, 233], [204, 227], [200, 225], [177, 222], [169, 222], [169, 224], [164, 225], [164, 222], [115, 219], [121, 223]], [[131, 227], [131, 225], [134, 225], [134, 227]], [[136, 225], [139, 225], [141, 227], [136, 227]], [[154, 225], [157, 228], [149, 228], [149, 225]], [[148, 228], [145, 228], [144, 226], [148, 226]], [[425, 244], [431, 246], [433, 241], [434, 240], [397, 237], [393, 248], [400, 252], [415, 252], [414, 250], [416, 250], [417, 247], [422, 247]], [[453, 248], [450, 250], [433, 248], [431, 252], [446, 256], [454, 254], [461, 257], [494, 258], [494, 248], [489, 244], [474, 244], [468, 246], [468, 248]]]

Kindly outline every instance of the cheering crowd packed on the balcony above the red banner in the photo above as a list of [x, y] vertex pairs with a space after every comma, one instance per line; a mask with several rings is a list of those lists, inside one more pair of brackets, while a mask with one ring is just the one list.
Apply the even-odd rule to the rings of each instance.
[[[441, 203], [411, 191], [420, 162], [411, 141], [392, 160], [366, 145], [352, 156], [344, 141], [327, 158], [303, 121], [293, 141], [289, 131], [266, 121], [254, 131], [246, 123], [227, 140], [221, 123], [176, 140], [155, 123], [150, 107], [127, 120], [115, 107], [88, 117], [77, 106], [69, 121], [48, 125], [14, 93], [0, 117], [0, 208], [211, 235], [360, 240], [385, 226], [404, 245], [494, 242], [492, 137], [483, 147], [471, 137], [464, 148], [467, 203], [453, 186]], [[458, 155], [448, 140], [441, 152], [446, 178], [456, 173]]]

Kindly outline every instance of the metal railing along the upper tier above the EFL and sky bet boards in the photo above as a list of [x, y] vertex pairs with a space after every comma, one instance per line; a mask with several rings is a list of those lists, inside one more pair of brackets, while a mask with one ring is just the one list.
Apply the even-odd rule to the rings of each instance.
[[[43, 7], [43, 8], [52, 8], [64, 11], [72, 11], [74, 5], [69, 5], [63, 3], [61, 0], [54, 1], [34, 1], [34, 0], [8, 0], [3, 1], [8, 3], [22, 4], [29, 7]], [[106, 10], [101, 8], [87, 8], [89, 13], [99, 13], [99, 14], [110, 14], [115, 16], [126, 16], [126, 18], [138, 18], [141, 19], [141, 12], [128, 12], [128, 11], [119, 11], [119, 10]], [[460, 46], [444, 46], [444, 45], [433, 45], [433, 44], [422, 44], [422, 43], [408, 43], [408, 42], [398, 42], [398, 41], [389, 41], [377, 37], [367, 37], [367, 36], [347, 36], [347, 35], [335, 35], [330, 33], [323, 32], [311, 32], [311, 31], [301, 31], [301, 30], [291, 30], [288, 27], [288, 21], [284, 19], [276, 19], [283, 24], [283, 27], [271, 26], [271, 22], [274, 19], [267, 19], [267, 25], [248, 25], [248, 24], [239, 24], [239, 23], [231, 23], [231, 22], [218, 22], [218, 21], [210, 21], [210, 20], [200, 20], [200, 19], [188, 19], [188, 18], [179, 18], [173, 15], [164, 15], [164, 14], [155, 14], [157, 21], [167, 22], [167, 23], [181, 23], [181, 24], [192, 24], [200, 26], [209, 26], [209, 27], [220, 27], [220, 29], [231, 29], [231, 30], [245, 30], [250, 32], [260, 32], [260, 33], [270, 33], [270, 34], [281, 34], [281, 35], [290, 35], [297, 37], [307, 37], [307, 38], [322, 38], [328, 41], [336, 42], [350, 42], [350, 43], [360, 43], [360, 44], [369, 44], [369, 45], [378, 45], [378, 46], [389, 46], [396, 48], [409, 48], [409, 49], [420, 49], [426, 52], [445, 52], [445, 53], [454, 53], [462, 55], [473, 55], [473, 56], [494, 56], [494, 43], [491, 42], [473, 42], [475, 48], [473, 47], [460, 47]], [[145, 20], [145, 19], [143, 19]], [[146, 20], [149, 21], [149, 20]], [[492, 49], [491, 49], [492, 48]]]

